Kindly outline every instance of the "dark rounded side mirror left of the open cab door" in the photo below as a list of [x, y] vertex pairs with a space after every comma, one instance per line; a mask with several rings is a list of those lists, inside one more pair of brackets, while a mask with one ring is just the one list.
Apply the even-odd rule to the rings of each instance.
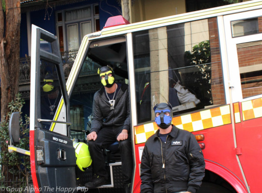
[[20, 124], [19, 112], [13, 112], [8, 125], [9, 138], [13, 144], [19, 143], [20, 138]]

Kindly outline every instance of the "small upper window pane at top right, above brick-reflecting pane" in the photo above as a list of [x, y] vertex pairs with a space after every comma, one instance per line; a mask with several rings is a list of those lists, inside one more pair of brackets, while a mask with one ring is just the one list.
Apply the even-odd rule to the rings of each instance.
[[232, 37], [261, 33], [258, 27], [261, 19], [262, 17], [231, 21]]

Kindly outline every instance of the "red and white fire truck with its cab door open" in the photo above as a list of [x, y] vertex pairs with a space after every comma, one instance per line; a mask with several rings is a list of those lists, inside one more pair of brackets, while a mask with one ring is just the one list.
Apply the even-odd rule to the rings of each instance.
[[[73, 140], [86, 142], [94, 93], [102, 87], [97, 71], [106, 65], [114, 68], [116, 82], [129, 85], [133, 193], [140, 192], [145, 142], [158, 129], [152, 109], [162, 102], [173, 106], [172, 123], [192, 132], [203, 151], [205, 177], [197, 193], [261, 192], [261, 0], [131, 24], [121, 16], [109, 18], [103, 30], [83, 37], [66, 79], [57, 37], [32, 26], [31, 57], [30, 152], [25, 153], [35, 193], [86, 191], [92, 165], [78, 171]], [[44, 102], [48, 73], [59, 89], [58, 105]], [[49, 118], [44, 105], [57, 106]], [[10, 121], [13, 143], [16, 117]], [[88, 192], [123, 192], [115, 146], [104, 150], [109, 183]]]

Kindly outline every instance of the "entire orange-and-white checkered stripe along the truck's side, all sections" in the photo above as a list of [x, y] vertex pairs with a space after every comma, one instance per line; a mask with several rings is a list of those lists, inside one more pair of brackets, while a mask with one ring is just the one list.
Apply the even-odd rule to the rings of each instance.
[[[241, 122], [239, 103], [233, 104], [235, 123]], [[243, 121], [262, 117], [262, 98], [242, 102]], [[172, 123], [190, 132], [231, 123], [229, 105], [174, 117]], [[135, 143], [143, 143], [158, 129], [156, 123], [135, 126]]]

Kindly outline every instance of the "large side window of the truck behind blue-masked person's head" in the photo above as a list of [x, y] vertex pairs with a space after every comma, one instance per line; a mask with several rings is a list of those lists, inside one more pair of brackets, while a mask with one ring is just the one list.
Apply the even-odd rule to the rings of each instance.
[[157, 103], [174, 115], [225, 104], [216, 18], [136, 32], [133, 44], [138, 123]]

